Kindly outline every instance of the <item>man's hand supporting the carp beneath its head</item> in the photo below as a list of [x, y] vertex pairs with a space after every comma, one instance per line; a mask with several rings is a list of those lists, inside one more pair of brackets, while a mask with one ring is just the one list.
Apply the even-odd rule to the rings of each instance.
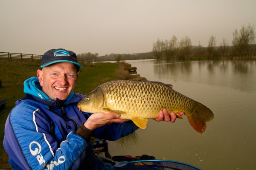
[[114, 113], [103, 113], [103, 112], [93, 113], [84, 123], [84, 126], [87, 129], [94, 130], [97, 127], [108, 125], [113, 122], [123, 123], [123, 122], [129, 121], [128, 119], [119, 119], [119, 117], [120, 117], [119, 114], [114, 114]]

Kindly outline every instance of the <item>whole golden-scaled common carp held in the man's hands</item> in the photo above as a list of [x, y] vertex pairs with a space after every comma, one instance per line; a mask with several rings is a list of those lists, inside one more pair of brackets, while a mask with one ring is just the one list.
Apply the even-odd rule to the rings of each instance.
[[117, 80], [99, 85], [79, 103], [81, 111], [116, 113], [121, 119], [131, 119], [145, 129], [148, 119], [158, 117], [159, 111], [184, 112], [190, 125], [199, 133], [206, 129], [206, 122], [214, 114], [205, 105], [172, 89], [172, 85], [147, 81], [145, 78]]

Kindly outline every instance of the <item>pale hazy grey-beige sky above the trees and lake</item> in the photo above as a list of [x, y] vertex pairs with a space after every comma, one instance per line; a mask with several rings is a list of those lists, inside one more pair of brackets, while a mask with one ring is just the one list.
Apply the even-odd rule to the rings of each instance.
[[256, 0], [0, 0], [0, 51], [132, 54], [173, 35], [231, 45], [249, 23], [256, 27]]

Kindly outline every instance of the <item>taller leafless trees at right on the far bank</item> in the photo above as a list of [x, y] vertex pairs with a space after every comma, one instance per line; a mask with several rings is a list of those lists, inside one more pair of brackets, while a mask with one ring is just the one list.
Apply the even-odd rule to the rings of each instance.
[[188, 36], [177, 39], [173, 35], [171, 40], [157, 39], [153, 43], [152, 54], [156, 59], [185, 59], [185, 58], [214, 58], [214, 57], [236, 57], [239, 59], [252, 59], [256, 56], [255, 28], [248, 24], [240, 30], [233, 31], [233, 41], [229, 42], [223, 38], [217, 46], [217, 39], [211, 35], [208, 46], [203, 47], [200, 42], [192, 46]]

